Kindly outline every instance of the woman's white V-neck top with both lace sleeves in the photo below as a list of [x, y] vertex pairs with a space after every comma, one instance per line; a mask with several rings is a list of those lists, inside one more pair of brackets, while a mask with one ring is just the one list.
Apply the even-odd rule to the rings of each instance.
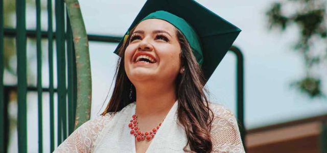
[[[234, 115], [217, 104], [209, 106], [214, 112], [211, 139], [213, 152], [245, 152], [238, 123]], [[115, 114], [96, 117], [82, 124], [54, 152], [133, 152], [135, 137], [128, 123], [135, 113], [131, 103]], [[167, 114], [160, 130], [151, 140], [146, 152], [184, 152], [187, 138], [177, 120], [177, 102]]]

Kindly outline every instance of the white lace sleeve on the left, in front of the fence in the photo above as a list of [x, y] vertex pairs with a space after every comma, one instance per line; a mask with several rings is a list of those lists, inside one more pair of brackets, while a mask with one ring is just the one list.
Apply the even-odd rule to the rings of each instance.
[[111, 118], [106, 114], [83, 123], [54, 152], [90, 152], [98, 133]]

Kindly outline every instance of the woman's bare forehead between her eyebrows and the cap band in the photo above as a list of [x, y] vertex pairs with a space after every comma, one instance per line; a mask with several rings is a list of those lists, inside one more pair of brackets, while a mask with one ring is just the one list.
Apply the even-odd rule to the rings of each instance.
[[176, 28], [173, 24], [165, 20], [151, 18], [138, 23], [134, 31], [137, 30], [143, 30], [143, 31], [165, 30], [173, 34], [176, 31]]

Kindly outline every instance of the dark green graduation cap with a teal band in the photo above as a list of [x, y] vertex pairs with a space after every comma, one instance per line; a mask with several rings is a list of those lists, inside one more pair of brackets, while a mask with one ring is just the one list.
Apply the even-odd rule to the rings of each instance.
[[[183, 33], [206, 81], [241, 32], [235, 25], [193, 0], [148, 0], [128, 31], [148, 18], [166, 20]], [[128, 31], [125, 37], [128, 36]], [[124, 38], [115, 49], [115, 54], [118, 54]]]

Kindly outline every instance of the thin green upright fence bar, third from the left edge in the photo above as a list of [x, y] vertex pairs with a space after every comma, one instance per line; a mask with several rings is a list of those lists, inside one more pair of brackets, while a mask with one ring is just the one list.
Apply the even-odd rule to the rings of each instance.
[[39, 152], [43, 152], [42, 128], [42, 50], [41, 50], [41, 3], [36, 0], [36, 52], [37, 52], [37, 100]]

